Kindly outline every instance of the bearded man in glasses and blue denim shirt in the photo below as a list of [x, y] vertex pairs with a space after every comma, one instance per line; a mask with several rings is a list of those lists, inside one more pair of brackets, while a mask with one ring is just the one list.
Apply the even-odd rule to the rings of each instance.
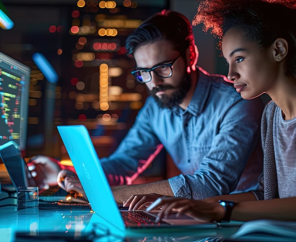
[[[116, 201], [137, 209], [159, 194], [204, 199], [254, 188], [262, 172], [263, 104], [241, 99], [226, 77], [195, 65], [198, 51], [190, 21], [163, 10], [127, 38], [126, 48], [136, 62], [132, 74], [145, 82], [151, 96], [117, 150], [101, 159]], [[181, 174], [132, 184], [163, 147]], [[68, 170], [60, 171], [58, 183], [84, 194]], [[138, 195], [130, 198], [133, 194]]]

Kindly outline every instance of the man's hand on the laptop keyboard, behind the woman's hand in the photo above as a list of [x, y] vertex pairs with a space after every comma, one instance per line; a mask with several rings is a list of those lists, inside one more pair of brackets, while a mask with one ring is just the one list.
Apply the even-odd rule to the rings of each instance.
[[123, 203], [123, 206], [128, 207], [128, 210], [146, 209], [152, 202], [160, 197], [163, 197], [163, 195], [157, 193], [132, 195]]

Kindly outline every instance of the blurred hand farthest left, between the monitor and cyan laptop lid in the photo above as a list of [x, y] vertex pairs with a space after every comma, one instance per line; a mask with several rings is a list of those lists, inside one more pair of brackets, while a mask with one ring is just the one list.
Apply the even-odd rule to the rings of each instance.
[[61, 170], [58, 162], [47, 156], [34, 156], [27, 162], [39, 192], [58, 186], [57, 177]]

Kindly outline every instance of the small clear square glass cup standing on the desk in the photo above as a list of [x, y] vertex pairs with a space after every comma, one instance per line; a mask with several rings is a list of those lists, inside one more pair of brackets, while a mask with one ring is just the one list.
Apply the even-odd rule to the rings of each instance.
[[38, 187], [37, 186], [19, 186], [17, 205], [18, 205], [18, 211], [37, 213], [39, 209]]

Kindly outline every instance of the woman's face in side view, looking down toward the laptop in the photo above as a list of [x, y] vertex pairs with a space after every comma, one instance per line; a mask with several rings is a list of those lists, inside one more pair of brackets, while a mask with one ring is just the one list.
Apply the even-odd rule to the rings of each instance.
[[222, 51], [229, 64], [228, 79], [243, 99], [271, 91], [279, 71], [271, 48], [247, 40], [241, 29], [232, 28], [224, 35]]

